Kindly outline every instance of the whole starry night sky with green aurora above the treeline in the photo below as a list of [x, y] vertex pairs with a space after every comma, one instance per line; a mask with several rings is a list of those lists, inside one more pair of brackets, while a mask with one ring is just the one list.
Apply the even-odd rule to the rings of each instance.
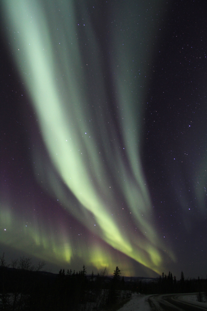
[[0, 254], [206, 277], [205, 1], [1, 5]]

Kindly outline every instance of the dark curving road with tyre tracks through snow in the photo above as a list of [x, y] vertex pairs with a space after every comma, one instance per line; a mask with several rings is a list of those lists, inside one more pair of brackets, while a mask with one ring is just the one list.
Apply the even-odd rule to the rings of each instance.
[[153, 295], [148, 302], [153, 311], [206, 311], [207, 303], [193, 301], [195, 295], [197, 293]]

